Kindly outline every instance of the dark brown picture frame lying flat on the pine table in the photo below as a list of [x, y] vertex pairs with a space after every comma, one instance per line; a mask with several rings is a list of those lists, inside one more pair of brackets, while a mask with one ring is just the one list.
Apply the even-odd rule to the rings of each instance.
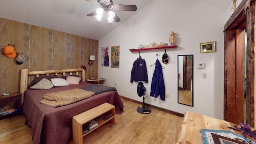
[[214, 144], [245, 144], [244, 142], [212, 133]]

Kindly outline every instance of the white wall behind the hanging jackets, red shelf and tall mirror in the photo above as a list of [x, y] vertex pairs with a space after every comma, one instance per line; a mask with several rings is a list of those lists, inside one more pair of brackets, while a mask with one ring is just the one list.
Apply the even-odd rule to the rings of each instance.
[[[98, 76], [106, 78], [105, 85], [114, 86], [121, 96], [142, 101], [136, 91], [137, 82], [130, 83], [132, 64], [138, 58], [138, 52], [128, 49], [137, 48], [138, 44], [150, 42], [168, 42], [169, 34], [176, 33], [176, 49], [166, 49], [175, 63], [162, 64], [166, 93], [165, 101], [150, 97], [153, 71], [150, 65], [156, 62], [158, 53], [162, 59], [164, 49], [142, 51], [146, 58], [148, 83], [146, 100], [148, 104], [184, 113], [192, 111], [214, 118], [223, 119], [224, 87], [224, 24], [226, 13], [202, 0], [154, 0], [132, 18], [99, 40], [99, 50], [104, 46], [120, 45], [120, 68], [103, 67], [99, 64]], [[122, 18], [121, 18], [122, 20]], [[216, 52], [199, 53], [200, 42], [216, 41]], [[169, 43], [169, 42], [168, 42]], [[100, 58], [99, 52], [99, 58]], [[194, 54], [194, 107], [177, 103], [177, 55]], [[205, 69], [196, 68], [204, 62]], [[202, 78], [207, 72], [207, 78]], [[134, 108], [136, 110], [136, 108]]]

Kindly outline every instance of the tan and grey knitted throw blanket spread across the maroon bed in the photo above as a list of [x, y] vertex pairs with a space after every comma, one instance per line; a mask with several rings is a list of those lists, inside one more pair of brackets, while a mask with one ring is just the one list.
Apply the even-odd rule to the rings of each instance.
[[100, 84], [92, 84], [82, 88], [75, 88], [73, 90], [64, 90], [59, 92], [52, 92], [44, 94], [40, 101], [42, 104], [48, 106], [59, 107], [84, 100], [95, 94], [116, 90], [114, 87], [102, 86]]

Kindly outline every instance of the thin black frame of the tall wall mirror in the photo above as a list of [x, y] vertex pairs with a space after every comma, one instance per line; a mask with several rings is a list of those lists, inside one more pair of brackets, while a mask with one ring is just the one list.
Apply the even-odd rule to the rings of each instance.
[[192, 107], [194, 107], [194, 79], [193, 79], [193, 77], [194, 77], [194, 55], [193, 54], [185, 54], [185, 55], [178, 55], [177, 56], [177, 58], [178, 58], [178, 74], [177, 74], [177, 92], [178, 92], [178, 104], [183, 104], [183, 103], [180, 103], [179, 102], [179, 56], [192, 56], [192, 76], [191, 76], [191, 78], [190, 78], [190, 80], [191, 80], [191, 87], [192, 87], [192, 105], [189, 105], [189, 104], [184, 104], [184, 105], [186, 105], [186, 106], [192, 106]]

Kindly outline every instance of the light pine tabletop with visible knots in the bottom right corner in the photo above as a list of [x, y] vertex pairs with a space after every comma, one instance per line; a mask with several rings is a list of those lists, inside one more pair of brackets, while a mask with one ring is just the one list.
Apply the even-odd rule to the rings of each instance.
[[[241, 131], [232, 130], [227, 128], [228, 126], [234, 128], [234, 124], [232, 122], [211, 118], [194, 112], [186, 112], [182, 120], [177, 144], [202, 144], [201, 129], [228, 130], [242, 135]], [[251, 128], [251, 130], [253, 131], [256, 129]], [[247, 135], [246, 138], [254, 140], [252, 137]]]

